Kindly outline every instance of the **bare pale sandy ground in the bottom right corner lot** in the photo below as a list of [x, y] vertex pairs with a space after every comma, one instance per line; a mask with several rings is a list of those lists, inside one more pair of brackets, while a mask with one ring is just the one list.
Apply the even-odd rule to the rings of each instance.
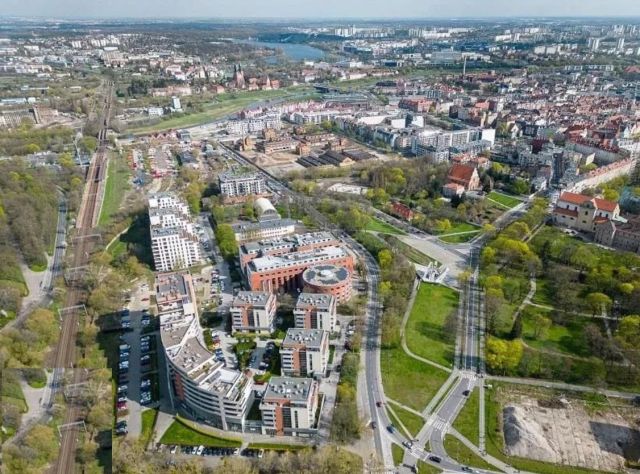
[[[624, 469], [640, 450], [640, 410], [587, 409], [577, 400], [540, 402], [522, 396], [503, 409], [509, 455], [603, 471]], [[632, 451], [636, 451], [633, 453]]]

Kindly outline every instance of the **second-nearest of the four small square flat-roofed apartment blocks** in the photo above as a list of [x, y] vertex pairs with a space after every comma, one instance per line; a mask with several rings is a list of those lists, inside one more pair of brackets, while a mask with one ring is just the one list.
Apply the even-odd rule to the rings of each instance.
[[321, 329], [290, 328], [280, 346], [283, 375], [322, 377], [329, 360], [329, 333]]

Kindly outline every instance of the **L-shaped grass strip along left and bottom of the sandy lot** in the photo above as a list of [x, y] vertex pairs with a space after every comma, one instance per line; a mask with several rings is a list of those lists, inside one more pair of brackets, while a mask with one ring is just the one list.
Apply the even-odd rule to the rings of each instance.
[[[533, 459], [507, 456], [504, 454], [504, 438], [500, 424], [502, 404], [500, 403], [501, 391], [507, 390], [508, 385], [499, 382], [492, 382], [493, 388], [486, 390], [486, 449], [487, 453], [501, 461], [510, 464], [522, 471], [536, 472], [539, 474], [602, 474], [602, 471], [586, 469], [574, 466], [564, 466], [551, 464]], [[449, 452], [451, 455], [452, 453]]]

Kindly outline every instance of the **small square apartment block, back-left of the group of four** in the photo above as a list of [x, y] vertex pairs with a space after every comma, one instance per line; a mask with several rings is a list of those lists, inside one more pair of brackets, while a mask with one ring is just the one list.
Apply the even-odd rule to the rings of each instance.
[[262, 291], [240, 291], [230, 307], [233, 332], [275, 330], [276, 296]]

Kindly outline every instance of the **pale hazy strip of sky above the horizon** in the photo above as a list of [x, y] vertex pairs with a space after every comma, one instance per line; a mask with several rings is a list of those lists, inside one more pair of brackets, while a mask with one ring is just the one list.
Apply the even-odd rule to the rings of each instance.
[[455, 18], [640, 16], [640, 0], [0, 0], [0, 16]]

